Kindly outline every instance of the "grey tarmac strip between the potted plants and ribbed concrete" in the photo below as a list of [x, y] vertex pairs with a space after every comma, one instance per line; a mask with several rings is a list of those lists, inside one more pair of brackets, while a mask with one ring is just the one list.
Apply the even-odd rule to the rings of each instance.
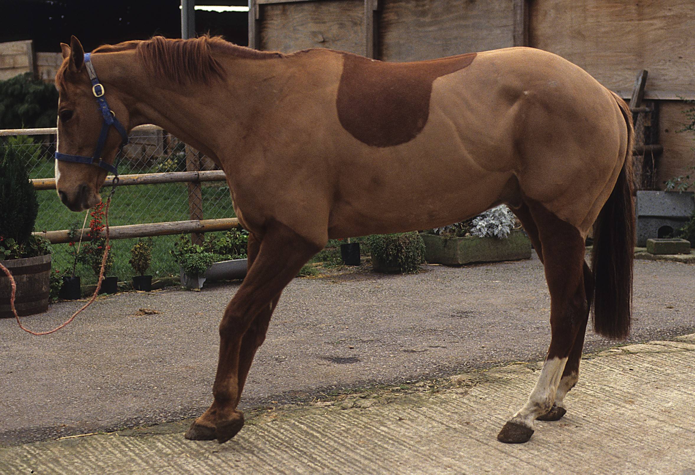
[[[546, 353], [550, 301], [537, 257], [424, 269], [391, 276], [361, 268], [293, 280], [256, 356], [243, 410], [537, 361]], [[694, 282], [693, 265], [635, 261], [631, 341], [695, 332]], [[211, 402], [217, 327], [236, 289], [231, 283], [109, 296], [44, 337], [0, 321], [0, 445], [199, 415]], [[53, 328], [80, 305], [52, 305], [24, 324]], [[589, 331], [585, 350], [612, 344]]]

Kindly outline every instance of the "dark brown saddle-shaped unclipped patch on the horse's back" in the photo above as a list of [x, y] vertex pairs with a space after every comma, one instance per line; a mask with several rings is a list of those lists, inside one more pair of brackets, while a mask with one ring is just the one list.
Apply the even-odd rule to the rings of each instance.
[[414, 63], [384, 63], [343, 53], [338, 118], [354, 138], [391, 147], [415, 138], [430, 115], [434, 79], [470, 65], [476, 53]]

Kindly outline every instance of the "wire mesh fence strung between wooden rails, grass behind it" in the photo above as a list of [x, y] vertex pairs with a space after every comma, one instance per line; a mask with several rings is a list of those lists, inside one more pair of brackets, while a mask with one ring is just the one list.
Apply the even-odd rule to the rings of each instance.
[[[56, 136], [0, 137], [0, 147], [15, 147], [15, 152], [26, 163], [29, 178], [54, 177], [54, 152]], [[120, 175], [155, 172], [175, 172], [215, 169], [214, 163], [161, 129], [137, 131], [131, 134], [130, 143], [124, 147], [119, 166]], [[104, 188], [106, 191], [106, 188]], [[38, 190], [39, 212], [36, 231], [80, 230], [88, 227], [89, 210], [74, 213], [58, 199], [55, 190]], [[234, 218], [227, 182], [165, 183], [136, 186], [120, 186], [116, 189], [108, 221], [111, 226], [143, 223], [161, 223], [190, 219]], [[170, 253], [179, 236], [155, 236], [152, 249], [153, 278], [178, 275], [179, 266]], [[114, 264], [111, 275], [119, 280], [130, 280], [135, 272], [129, 265], [131, 248], [137, 239], [111, 241]], [[72, 272], [74, 258], [70, 244], [54, 244], [53, 268]], [[83, 283], [96, 282], [92, 269], [76, 264], [76, 275]]]

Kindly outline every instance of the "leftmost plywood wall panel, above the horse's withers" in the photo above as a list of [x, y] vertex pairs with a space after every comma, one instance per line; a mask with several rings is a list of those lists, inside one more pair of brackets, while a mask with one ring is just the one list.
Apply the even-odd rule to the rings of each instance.
[[325, 0], [259, 5], [261, 48], [290, 53], [331, 48], [363, 54], [364, 2]]

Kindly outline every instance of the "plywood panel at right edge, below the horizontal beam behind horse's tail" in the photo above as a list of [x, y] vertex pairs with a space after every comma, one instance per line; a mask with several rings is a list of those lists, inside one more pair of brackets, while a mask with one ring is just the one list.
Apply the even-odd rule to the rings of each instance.
[[[678, 132], [686, 122], [683, 113], [695, 104], [682, 101], [662, 101], [659, 120], [659, 143], [664, 145], [664, 153], [657, 165], [657, 184], [664, 188], [664, 182], [672, 177], [690, 174], [695, 179], [692, 168], [695, 166], [695, 134]], [[691, 188], [691, 191], [695, 191]]]

